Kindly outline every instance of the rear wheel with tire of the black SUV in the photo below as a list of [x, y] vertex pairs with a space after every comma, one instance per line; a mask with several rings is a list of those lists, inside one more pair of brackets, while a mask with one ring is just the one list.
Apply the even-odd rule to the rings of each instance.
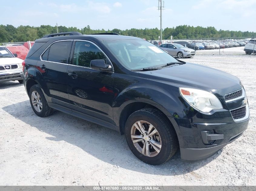
[[[32, 93], [33, 93], [33, 98], [32, 98]], [[38, 95], [39, 95], [39, 97], [38, 97]], [[38, 98], [38, 102], [37, 102], [36, 98]], [[29, 100], [30, 100], [30, 104], [31, 104], [31, 107], [32, 107], [33, 111], [35, 112], [36, 115], [38, 115], [40, 117], [49, 116], [54, 111], [52, 108], [50, 108], [48, 106], [48, 103], [45, 99], [43, 91], [42, 91], [41, 87], [38, 84], [33, 85], [30, 88], [30, 90], [29, 90]], [[35, 104], [35, 106], [33, 105], [32, 101]], [[38, 109], [38, 107], [39, 107], [39, 109]]]

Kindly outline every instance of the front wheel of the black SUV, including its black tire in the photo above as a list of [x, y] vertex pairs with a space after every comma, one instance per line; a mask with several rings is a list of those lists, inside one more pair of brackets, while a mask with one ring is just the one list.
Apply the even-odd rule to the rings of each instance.
[[[132, 113], [125, 123], [126, 142], [132, 153], [145, 163], [152, 165], [162, 164], [168, 161], [178, 149], [179, 144], [176, 132], [163, 115], [156, 109], [144, 108]], [[143, 130], [138, 130], [139, 123], [141, 123]], [[152, 127], [151, 130], [149, 130], [150, 126]], [[146, 131], [146, 133], [142, 137], [141, 132], [143, 131]], [[153, 132], [155, 134], [151, 135]], [[137, 137], [135, 138], [135, 136]], [[155, 146], [161, 145], [161, 147], [155, 149], [156, 147], [153, 147], [153, 143]], [[145, 144], [148, 147], [145, 147], [143, 151]], [[148, 148], [148, 153], [146, 148]]]

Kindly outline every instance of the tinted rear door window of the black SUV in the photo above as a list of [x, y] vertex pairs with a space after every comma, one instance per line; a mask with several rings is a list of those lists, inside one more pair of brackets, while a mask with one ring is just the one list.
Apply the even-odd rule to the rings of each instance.
[[[46, 50], [44, 55], [42, 56], [43, 60], [48, 60], [51, 62], [59, 62], [59, 63], [67, 63], [68, 57], [70, 55], [72, 41], [60, 41], [53, 43], [48, 49]], [[48, 59], [47, 59], [47, 52]]]

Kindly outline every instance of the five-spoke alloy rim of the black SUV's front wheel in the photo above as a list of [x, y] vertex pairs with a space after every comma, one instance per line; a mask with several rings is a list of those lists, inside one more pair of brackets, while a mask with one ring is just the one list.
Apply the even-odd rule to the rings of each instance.
[[131, 127], [131, 140], [135, 148], [147, 157], [158, 155], [162, 142], [157, 129], [147, 121], [137, 121]]

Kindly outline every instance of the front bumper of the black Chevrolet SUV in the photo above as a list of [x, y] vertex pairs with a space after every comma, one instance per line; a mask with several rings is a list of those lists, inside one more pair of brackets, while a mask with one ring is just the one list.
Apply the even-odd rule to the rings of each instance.
[[[178, 136], [181, 159], [203, 160], [240, 137], [247, 129], [250, 118], [249, 106], [244, 100], [246, 97], [228, 101], [229, 110], [212, 110], [208, 114], [198, 112], [191, 119], [169, 117]], [[245, 116], [233, 118], [231, 111], [240, 107], [246, 107]]]

